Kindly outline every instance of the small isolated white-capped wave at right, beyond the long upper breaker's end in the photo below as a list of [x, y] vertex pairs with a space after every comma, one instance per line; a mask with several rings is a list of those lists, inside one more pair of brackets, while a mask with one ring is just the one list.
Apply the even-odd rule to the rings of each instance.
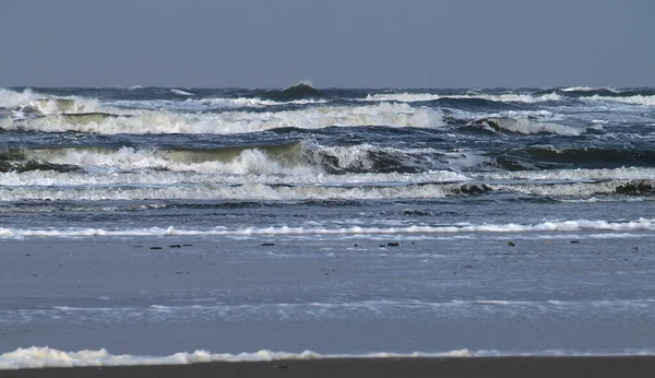
[[581, 128], [553, 122], [543, 122], [527, 118], [487, 118], [478, 120], [475, 123], [481, 125], [485, 129], [490, 131], [509, 131], [520, 134], [547, 133], [579, 137], [586, 131]]

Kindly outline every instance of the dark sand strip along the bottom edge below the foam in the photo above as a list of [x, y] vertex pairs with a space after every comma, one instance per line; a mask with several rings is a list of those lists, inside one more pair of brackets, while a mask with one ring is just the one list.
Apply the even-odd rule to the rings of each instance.
[[0, 377], [655, 377], [655, 357], [330, 358], [0, 370]]

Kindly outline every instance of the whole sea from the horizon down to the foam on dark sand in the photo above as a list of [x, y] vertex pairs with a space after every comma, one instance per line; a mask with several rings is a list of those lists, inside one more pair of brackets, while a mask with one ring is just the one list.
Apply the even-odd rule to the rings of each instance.
[[0, 88], [0, 368], [655, 351], [654, 88]]

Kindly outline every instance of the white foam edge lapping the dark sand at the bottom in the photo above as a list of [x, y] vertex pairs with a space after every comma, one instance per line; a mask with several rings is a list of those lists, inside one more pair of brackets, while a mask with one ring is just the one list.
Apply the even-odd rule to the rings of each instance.
[[106, 350], [63, 352], [51, 347], [32, 346], [17, 349], [0, 355], [0, 369], [74, 367], [74, 366], [135, 366], [135, 365], [186, 365], [212, 362], [257, 362], [277, 359], [317, 359], [317, 358], [397, 358], [397, 357], [468, 357], [468, 350], [444, 353], [368, 353], [368, 354], [319, 354], [311, 351], [302, 353], [271, 352], [262, 350], [254, 353], [210, 353], [195, 351], [176, 353], [169, 356], [112, 355]]

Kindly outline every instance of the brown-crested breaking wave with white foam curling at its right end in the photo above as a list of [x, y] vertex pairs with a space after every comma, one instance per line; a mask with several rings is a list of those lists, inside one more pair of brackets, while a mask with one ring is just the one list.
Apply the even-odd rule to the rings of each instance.
[[323, 146], [312, 141], [213, 149], [49, 147], [0, 150], [0, 172], [106, 168], [215, 174], [414, 174], [429, 173], [421, 156], [433, 150], [398, 150], [370, 144]]

